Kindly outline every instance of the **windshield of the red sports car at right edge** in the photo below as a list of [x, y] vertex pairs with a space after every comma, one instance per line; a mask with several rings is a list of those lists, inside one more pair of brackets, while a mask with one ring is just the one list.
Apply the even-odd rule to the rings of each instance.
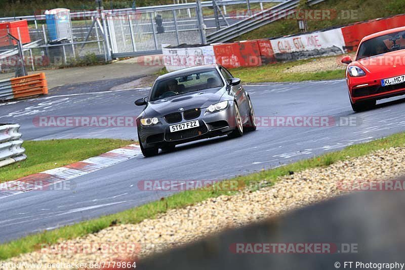
[[356, 60], [405, 49], [405, 31], [372, 38], [360, 45]]

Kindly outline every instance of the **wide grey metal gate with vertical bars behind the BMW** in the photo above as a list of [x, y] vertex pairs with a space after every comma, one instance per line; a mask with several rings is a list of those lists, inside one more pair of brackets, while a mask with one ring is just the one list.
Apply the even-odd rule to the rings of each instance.
[[113, 57], [161, 53], [162, 44], [204, 43], [197, 8], [106, 16]]

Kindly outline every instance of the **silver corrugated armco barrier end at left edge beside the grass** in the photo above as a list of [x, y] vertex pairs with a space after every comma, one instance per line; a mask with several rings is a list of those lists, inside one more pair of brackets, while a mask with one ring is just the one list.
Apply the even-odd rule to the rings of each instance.
[[27, 158], [18, 124], [0, 124], [0, 167]]

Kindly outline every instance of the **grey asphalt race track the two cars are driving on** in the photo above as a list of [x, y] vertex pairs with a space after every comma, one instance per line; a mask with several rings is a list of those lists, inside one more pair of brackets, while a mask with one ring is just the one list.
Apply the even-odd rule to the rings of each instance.
[[[405, 99], [380, 101], [376, 109], [354, 113], [345, 81], [277, 83], [247, 86], [257, 117], [328, 116], [331, 127], [259, 127], [237, 139], [188, 143], [175, 152], [141, 156], [72, 181], [74, 190], [30, 191], [0, 201], [0, 241], [115, 213], [169, 195], [142, 191], [140, 180], [224, 179], [273, 168], [326, 151], [405, 130]], [[1, 123], [19, 123], [23, 139], [136, 138], [134, 127], [39, 128], [37, 116], [136, 116], [134, 100], [147, 90], [53, 95], [0, 104]], [[402, 97], [403, 98], [403, 97]], [[380, 104], [383, 103], [383, 104]], [[352, 124], [346, 124], [348, 119]], [[353, 122], [354, 121], [354, 122]]]

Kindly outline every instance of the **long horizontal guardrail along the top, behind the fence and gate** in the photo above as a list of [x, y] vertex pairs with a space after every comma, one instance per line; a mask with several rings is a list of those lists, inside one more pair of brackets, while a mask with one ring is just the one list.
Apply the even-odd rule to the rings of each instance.
[[[250, 0], [250, 3], [274, 3], [274, 2], [282, 2], [285, 0]], [[217, 4], [220, 6], [228, 6], [228, 5], [238, 5], [238, 4], [246, 4], [246, 0], [222, 0], [217, 1]], [[212, 7], [212, 1], [204, 1], [201, 2], [201, 6], [204, 7]], [[163, 11], [163, 10], [174, 10], [174, 9], [188, 9], [188, 8], [195, 8], [195, 3], [184, 3], [184, 4], [172, 4], [172, 5], [160, 5], [160, 6], [151, 6], [151, 7], [139, 7], [135, 10], [132, 8], [128, 9], [115, 9], [115, 10], [104, 10], [106, 13], [110, 14], [125, 14], [125, 12], [154, 12], [154, 11]], [[70, 17], [73, 18], [90, 18], [92, 16], [97, 16], [98, 11], [84, 11], [84, 12], [72, 12], [70, 13]], [[36, 20], [45, 20], [45, 15], [30, 15], [30, 16], [15, 16], [15, 17], [4, 17], [0, 18], [0, 21], [14, 21], [14, 20], [27, 20], [27, 21], [36, 21]]]

